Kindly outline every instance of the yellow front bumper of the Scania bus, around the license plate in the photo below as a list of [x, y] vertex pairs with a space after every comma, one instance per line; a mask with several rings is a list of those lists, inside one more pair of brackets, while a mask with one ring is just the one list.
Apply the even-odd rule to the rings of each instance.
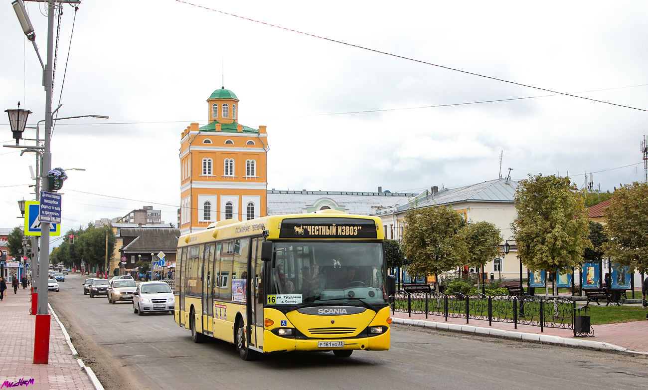
[[[291, 350], [349, 350], [349, 349], [365, 349], [365, 350], [388, 350], [390, 329], [387, 332], [378, 336], [359, 337], [359, 338], [343, 338], [343, 339], [295, 339], [284, 338], [277, 336], [264, 330], [263, 332], [263, 352], [290, 352]], [[319, 347], [320, 341], [344, 341], [344, 347]]]

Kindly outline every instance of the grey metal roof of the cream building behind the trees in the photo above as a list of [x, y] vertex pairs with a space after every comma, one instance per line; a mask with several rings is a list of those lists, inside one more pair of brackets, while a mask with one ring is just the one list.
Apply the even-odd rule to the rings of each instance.
[[417, 202], [417, 207], [449, 205], [467, 201], [515, 203], [515, 191], [517, 188], [517, 181], [496, 179], [456, 189], [442, 189], [435, 194], [426, 195], [423, 193], [416, 200], [400, 206], [398, 211], [409, 209], [414, 202]]

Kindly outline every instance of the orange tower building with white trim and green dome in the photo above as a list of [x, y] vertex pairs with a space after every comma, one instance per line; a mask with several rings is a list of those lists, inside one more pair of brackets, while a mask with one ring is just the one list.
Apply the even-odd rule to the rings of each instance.
[[268, 134], [238, 123], [238, 98], [222, 87], [207, 99], [209, 124], [192, 123], [180, 148], [180, 232], [266, 216]]

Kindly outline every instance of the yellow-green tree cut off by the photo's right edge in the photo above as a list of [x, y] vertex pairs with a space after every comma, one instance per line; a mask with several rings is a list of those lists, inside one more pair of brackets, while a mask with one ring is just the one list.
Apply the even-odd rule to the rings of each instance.
[[612, 196], [604, 211], [605, 231], [610, 240], [603, 244], [605, 255], [616, 264], [648, 271], [648, 183], [625, 185]]

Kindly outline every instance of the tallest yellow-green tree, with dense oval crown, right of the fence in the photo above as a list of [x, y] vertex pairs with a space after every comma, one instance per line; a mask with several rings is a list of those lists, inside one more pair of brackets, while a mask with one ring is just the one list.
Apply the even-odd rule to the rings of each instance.
[[515, 201], [518, 216], [512, 227], [522, 264], [554, 273], [580, 264], [591, 245], [587, 211], [569, 178], [529, 175], [518, 182]]

